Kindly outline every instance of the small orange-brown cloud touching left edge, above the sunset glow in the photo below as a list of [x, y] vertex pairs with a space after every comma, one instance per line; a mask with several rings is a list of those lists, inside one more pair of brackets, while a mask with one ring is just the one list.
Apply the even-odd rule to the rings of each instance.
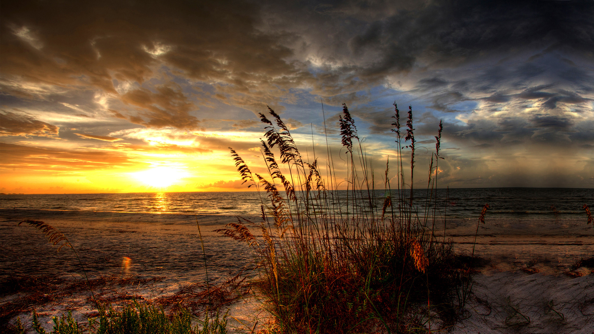
[[0, 113], [0, 136], [57, 137], [59, 127], [10, 111]]

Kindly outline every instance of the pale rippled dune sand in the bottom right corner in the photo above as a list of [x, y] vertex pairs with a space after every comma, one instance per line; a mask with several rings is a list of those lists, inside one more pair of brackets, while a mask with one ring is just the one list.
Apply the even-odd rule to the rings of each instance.
[[592, 333], [594, 276], [489, 270], [475, 276], [453, 333]]

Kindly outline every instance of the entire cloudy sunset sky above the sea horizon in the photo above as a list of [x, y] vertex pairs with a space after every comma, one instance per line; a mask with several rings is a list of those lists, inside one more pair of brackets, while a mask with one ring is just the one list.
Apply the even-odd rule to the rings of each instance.
[[344, 177], [342, 103], [378, 183], [397, 103], [415, 187], [441, 120], [438, 187], [594, 188], [593, 17], [594, 1], [4, 0], [0, 192], [245, 190], [228, 147], [266, 170], [267, 106]]

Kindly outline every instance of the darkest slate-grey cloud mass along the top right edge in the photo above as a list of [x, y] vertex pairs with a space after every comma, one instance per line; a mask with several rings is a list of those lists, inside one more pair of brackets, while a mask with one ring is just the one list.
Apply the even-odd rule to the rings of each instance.
[[[358, 66], [340, 70], [385, 75], [410, 70], [419, 59], [431, 64], [459, 64], [488, 52], [526, 48], [548, 48], [547, 52], [569, 48], [587, 54], [594, 46], [593, 8], [589, 1], [429, 1], [412, 6], [330, 1], [324, 10], [312, 11], [307, 2], [277, 10], [281, 16], [287, 11], [299, 12], [307, 26], [320, 27], [315, 30], [320, 31], [318, 38], [331, 34], [343, 39], [318, 46], [333, 49], [337, 59], [347, 58], [349, 52], [361, 58], [355, 57]], [[367, 15], [358, 15], [363, 13]], [[286, 26], [298, 30], [293, 23]], [[525, 73], [540, 71], [530, 64], [525, 67]]]

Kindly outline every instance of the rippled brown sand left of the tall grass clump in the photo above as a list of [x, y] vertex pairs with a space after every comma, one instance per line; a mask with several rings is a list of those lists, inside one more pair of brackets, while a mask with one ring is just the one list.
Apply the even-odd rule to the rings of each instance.
[[26, 307], [28, 311], [21, 314], [21, 319], [30, 317], [30, 310], [35, 308], [48, 326], [51, 316], [74, 310], [77, 319], [84, 319], [97, 308], [72, 250], [65, 247], [57, 252], [58, 247], [50, 245], [41, 232], [31, 226], [17, 226], [23, 219], [43, 220], [64, 233], [80, 256], [97, 299], [107, 303], [172, 297], [192, 283], [205, 282], [197, 222], [211, 285], [235, 276], [250, 264], [244, 245], [213, 232], [236, 221], [233, 216], [56, 210], [2, 210], [0, 216], [5, 254], [1, 278], [21, 279], [24, 283], [34, 278], [37, 281], [33, 285], [43, 287], [49, 283], [59, 290], [42, 289], [40, 300], [47, 303], [21, 305], [20, 299], [30, 288], [26, 286], [24, 293], [3, 293], [0, 307]]

